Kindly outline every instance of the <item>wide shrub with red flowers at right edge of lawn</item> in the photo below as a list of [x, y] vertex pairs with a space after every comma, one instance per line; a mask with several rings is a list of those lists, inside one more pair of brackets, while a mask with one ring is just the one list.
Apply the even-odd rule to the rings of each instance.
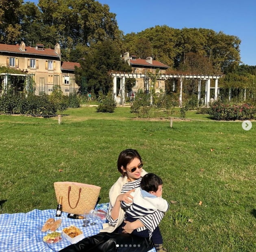
[[255, 118], [256, 107], [250, 104], [230, 105], [216, 101], [210, 105], [209, 114], [215, 120], [249, 120]]

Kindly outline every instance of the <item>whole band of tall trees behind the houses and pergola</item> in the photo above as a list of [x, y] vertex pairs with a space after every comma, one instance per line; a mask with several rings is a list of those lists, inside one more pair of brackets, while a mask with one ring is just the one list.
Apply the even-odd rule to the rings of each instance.
[[35, 46], [61, 45], [61, 59], [80, 62], [77, 80], [107, 91], [108, 72], [130, 71], [120, 54], [152, 56], [169, 73], [224, 74], [220, 85], [254, 88], [256, 66], [241, 65], [241, 40], [205, 28], [175, 29], [167, 25], [124, 34], [116, 14], [95, 0], [0, 0], [0, 43], [24, 41]]

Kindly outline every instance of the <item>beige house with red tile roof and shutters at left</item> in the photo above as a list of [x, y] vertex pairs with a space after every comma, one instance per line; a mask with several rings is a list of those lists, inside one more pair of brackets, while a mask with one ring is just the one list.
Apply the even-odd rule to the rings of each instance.
[[74, 69], [80, 64], [62, 62], [58, 43], [54, 49], [44, 48], [42, 44], [37, 44], [36, 47], [26, 46], [24, 42], [20, 45], [0, 44], [0, 66], [20, 70], [30, 76], [36, 95], [50, 94], [54, 85], [59, 85], [66, 95], [78, 89]]

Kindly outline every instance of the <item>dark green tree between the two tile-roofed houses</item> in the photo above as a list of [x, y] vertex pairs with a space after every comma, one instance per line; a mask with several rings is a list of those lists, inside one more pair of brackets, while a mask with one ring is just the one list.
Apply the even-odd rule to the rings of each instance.
[[120, 57], [120, 50], [110, 40], [103, 41], [93, 46], [80, 60], [80, 68], [75, 69], [76, 83], [80, 86], [82, 78], [87, 79], [88, 88], [96, 94], [100, 90], [108, 93], [112, 86], [110, 71], [130, 72], [131, 67]]

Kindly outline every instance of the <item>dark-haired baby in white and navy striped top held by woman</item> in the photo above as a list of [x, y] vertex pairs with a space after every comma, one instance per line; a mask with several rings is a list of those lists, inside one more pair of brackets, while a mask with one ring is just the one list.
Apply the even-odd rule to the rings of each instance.
[[[148, 173], [141, 180], [141, 186], [135, 189], [130, 195], [133, 196], [132, 203], [125, 203], [121, 201], [121, 207], [126, 209], [125, 220], [134, 222], [145, 215], [152, 216], [151, 222], [148, 222], [147, 226], [153, 225], [155, 222], [160, 222], [163, 215], [159, 215], [160, 220], [156, 220], [157, 214], [152, 215], [156, 211], [166, 212], [169, 209], [169, 204], [166, 200], [161, 198], [162, 196], [163, 181], [156, 174]], [[122, 225], [124, 226], [125, 223]], [[167, 251], [163, 248], [163, 238], [160, 233], [160, 229], [157, 226], [153, 232], [150, 228], [135, 229], [132, 234], [141, 237], [151, 237], [155, 244], [157, 252]]]

